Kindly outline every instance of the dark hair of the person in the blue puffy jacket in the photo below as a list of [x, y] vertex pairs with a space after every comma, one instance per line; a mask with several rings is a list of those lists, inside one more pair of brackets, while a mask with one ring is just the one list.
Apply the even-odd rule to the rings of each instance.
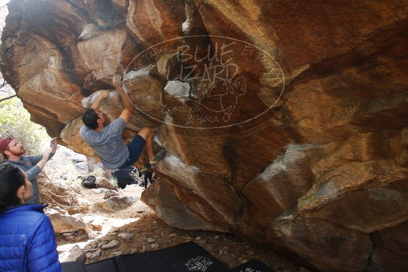
[[25, 177], [18, 167], [9, 164], [0, 166], [0, 212], [20, 204], [17, 190], [22, 185], [25, 185]]

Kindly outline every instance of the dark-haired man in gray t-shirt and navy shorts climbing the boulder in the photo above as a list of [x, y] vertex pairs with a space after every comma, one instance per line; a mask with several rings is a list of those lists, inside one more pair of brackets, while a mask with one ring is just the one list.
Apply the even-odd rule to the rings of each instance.
[[99, 106], [102, 99], [108, 97], [109, 91], [103, 90], [82, 116], [85, 125], [79, 129], [79, 134], [95, 150], [102, 165], [107, 169], [125, 169], [135, 164], [146, 149], [149, 162], [140, 170], [142, 174], [145, 174], [149, 168], [154, 167], [158, 160], [166, 156], [166, 151], [162, 150], [154, 155], [153, 133], [148, 127], [141, 128], [127, 145], [123, 142], [122, 131], [129, 123], [134, 106], [122, 89], [120, 75], [114, 76], [113, 85], [125, 107], [120, 117], [110, 124], [106, 123], [104, 114], [99, 111]]

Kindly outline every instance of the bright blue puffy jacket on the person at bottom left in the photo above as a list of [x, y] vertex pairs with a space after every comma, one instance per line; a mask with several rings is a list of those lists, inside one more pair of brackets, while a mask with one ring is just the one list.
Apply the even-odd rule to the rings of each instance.
[[0, 212], [0, 271], [62, 271], [45, 205]]

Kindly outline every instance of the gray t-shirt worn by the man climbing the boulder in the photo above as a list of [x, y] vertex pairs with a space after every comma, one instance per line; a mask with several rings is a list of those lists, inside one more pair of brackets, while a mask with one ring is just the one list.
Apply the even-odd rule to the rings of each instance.
[[83, 125], [79, 129], [79, 135], [95, 150], [105, 168], [117, 169], [129, 157], [129, 151], [122, 139], [122, 131], [125, 127], [125, 120], [118, 118], [101, 131], [95, 131]]

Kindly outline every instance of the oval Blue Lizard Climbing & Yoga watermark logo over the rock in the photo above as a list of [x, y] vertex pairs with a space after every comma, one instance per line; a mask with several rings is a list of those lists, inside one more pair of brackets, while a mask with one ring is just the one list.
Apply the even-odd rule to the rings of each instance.
[[[192, 35], [156, 43], [133, 58], [124, 80], [152, 70], [164, 83], [158, 90], [162, 104], [152, 110], [135, 103], [135, 108], [181, 128], [228, 128], [254, 121], [279, 110], [288, 89], [281, 65], [268, 52], [226, 36]], [[142, 91], [131, 80], [127, 88]]]

